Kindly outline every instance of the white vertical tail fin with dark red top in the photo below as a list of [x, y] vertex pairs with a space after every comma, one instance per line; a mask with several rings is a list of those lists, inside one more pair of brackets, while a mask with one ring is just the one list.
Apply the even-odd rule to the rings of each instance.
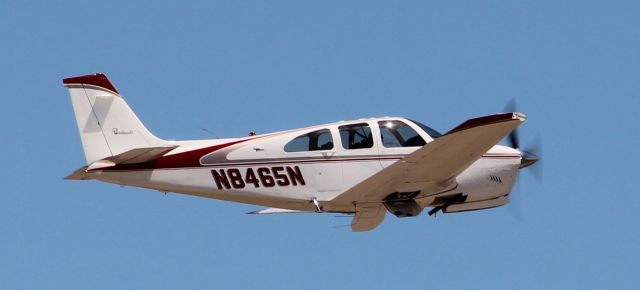
[[87, 164], [133, 149], [175, 147], [147, 130], [104, 74], [66, 78], [63, 83], [69, 89]]

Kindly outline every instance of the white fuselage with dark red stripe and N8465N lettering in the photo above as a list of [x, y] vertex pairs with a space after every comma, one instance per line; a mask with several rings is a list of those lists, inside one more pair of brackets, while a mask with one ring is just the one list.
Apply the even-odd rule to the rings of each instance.
[[[352, 204], [332, 200], [420, 148], [385, 143], [389, 137], [383, 132], [383, 124], [395, 121], [411, 127], [426, 143], [433, 140], [411, 120], [372, 118], [247, 138], [176, 141], [179, 146], [164, 156], [165, 161], [89, 173], [92, 178], [109, 183], [284, 209], [312, 211], [315, 207], [310, 201], [316, 200], [325, 211], [350, 213], [354, 212]], [[353, 146], [345, 145], [346, 139], [352, 137], [343, 128], [353, 124], [368, 126], [373, 144], [347, 148]], [[304, 138], [309, 136], [318, 140], [328, 138], [324, 145], [331, 148], [287, 150], [289, 146], [295, 147], [295, 142], [307, 142]], [[185, 161], [188, 159], [191, 161]], [[464, 194], [466, 203], [506, 199], [515, 183], [520, 160], [520, 151], [496, 145], [457, 176], [455, 188], [419, 194], [415, 200], [424, 208], [437, 205], [436, 197], [452, 193]]]

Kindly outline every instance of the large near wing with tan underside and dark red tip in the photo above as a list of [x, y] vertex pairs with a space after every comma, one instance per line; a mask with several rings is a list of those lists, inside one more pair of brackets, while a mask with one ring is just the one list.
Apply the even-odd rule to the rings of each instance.
[[[337, 196], [332, 202], [356, 205], [354, 223], [358, 224], [358, 204], [381, 204], [387, 196], [396, 192], [435, 194], [454, 188], [458, 174], [525, 119], [526, 116], [521, 113], [470, 119]], [[359, 229], [352, 224], [354, 231], [356, 228]]]

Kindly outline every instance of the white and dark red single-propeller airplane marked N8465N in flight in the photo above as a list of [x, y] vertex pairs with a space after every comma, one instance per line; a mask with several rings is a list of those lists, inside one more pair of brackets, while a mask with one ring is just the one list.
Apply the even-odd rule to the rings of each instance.
[[[153, 135], [102, 73], [66, 78], [86, 158], [70, 180], [99, 180], [266, 207], [253, 214], [353, 215], [351, 230], [386, 212], [415, 217], [505, 205], [520, 169], [526, 116], [473, 118], [441, 134], [402, 117], [339, 121], [241, 138]], [[498, 145], [508, 137], [512, 147]]]

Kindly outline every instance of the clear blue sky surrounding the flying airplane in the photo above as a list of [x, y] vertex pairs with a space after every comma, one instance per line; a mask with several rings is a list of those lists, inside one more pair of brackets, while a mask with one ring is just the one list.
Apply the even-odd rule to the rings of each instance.
[[[639, 8], [3, 1], [0, 288], [636, 289]], [[61, 79], [98, 71], [176, 140], [385, 115], [447, 131], [515, 98], [544, 182], [523, 172], [515, 209], [354, 234], [330, 214], [65, 181], [84, 156]]]

